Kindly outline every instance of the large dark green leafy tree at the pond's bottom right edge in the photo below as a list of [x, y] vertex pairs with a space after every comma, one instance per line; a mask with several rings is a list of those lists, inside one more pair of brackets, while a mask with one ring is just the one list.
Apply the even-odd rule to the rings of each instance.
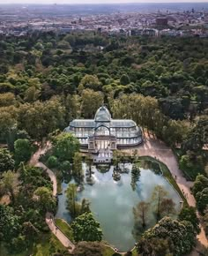
[[190, 222], [178, 222], [170, 217], [164, 217], [152, 229], [145, 231], [137, 243], [137, 252], [144, 256], [153, 256], [154, 246], [157, 247], [157, 244], [162, 242], [164, 251], [161, 250], [161, 254], [156, 255], [167, 256], [168, 253], [172, 253], [175, 256], [182, 256], [189, 253], [195, 245], [196, 234]]

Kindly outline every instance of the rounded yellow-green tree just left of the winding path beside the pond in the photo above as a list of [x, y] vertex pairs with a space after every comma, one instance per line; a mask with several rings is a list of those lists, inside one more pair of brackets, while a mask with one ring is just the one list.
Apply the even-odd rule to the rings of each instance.
[[55, 212], [56, 198], [47, 187], [39, 187], [33, 192], [33, 200], [37, 202], [38, 207], [46, 212]]

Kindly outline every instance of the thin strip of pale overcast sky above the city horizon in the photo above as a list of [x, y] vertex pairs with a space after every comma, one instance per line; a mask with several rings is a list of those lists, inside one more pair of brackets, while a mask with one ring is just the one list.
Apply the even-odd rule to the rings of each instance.
[[185, 3], [208, 0], [0, 0], [0, 4], [120, 4], [120, 3]]

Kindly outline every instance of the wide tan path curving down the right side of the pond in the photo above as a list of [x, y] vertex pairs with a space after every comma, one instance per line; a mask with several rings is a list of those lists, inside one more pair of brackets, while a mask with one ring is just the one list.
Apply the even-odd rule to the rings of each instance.
[[[189, 206], [196, 207], [196, 200], [190, 192], [190, 188], [191, 186], [193, 186], [193, 182], [189, 182], [186, 180], [185, 177], [183, 177], [182, 171], [179, 169], [178, 161], [175, 157], [175, 154], [169, 147], [167, 147], [159, 139], [154, 139], [150, 136], [147, 136], [142, 146], [134, 149], [126, 149], [125, 151], [129, 154], [133, 154], [133, 151], [135, 149], [137, 149], [137, 154], [139, 156], [148, 155], [160, 160], [160, 162], [164, 162], [167, 165], [167, 168], [172, 173], [173, 177], [176, 176], [176, 183], [178, 184], [181, 191], [187, 195], [187, 201], [189, 203]], [[200, 215], [198, 214], [198, 212], [197, 216], [200, 220]], [[201, 245], [208, 246], [205, 232], [201, 224], [200, 230], [201, 232], [197, 235], [197, 239], [201, 243]]]

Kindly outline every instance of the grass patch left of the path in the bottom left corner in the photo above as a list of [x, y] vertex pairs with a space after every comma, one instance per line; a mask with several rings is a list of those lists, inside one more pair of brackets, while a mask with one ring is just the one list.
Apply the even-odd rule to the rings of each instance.
[[41, 234], [41, 240], [24, 252], [11, 254], [3, 243], [0, 244], [0, 252], [1, 256], [51, 256], [56, 252], [66, 252], [66, 248], [53, 234]]

